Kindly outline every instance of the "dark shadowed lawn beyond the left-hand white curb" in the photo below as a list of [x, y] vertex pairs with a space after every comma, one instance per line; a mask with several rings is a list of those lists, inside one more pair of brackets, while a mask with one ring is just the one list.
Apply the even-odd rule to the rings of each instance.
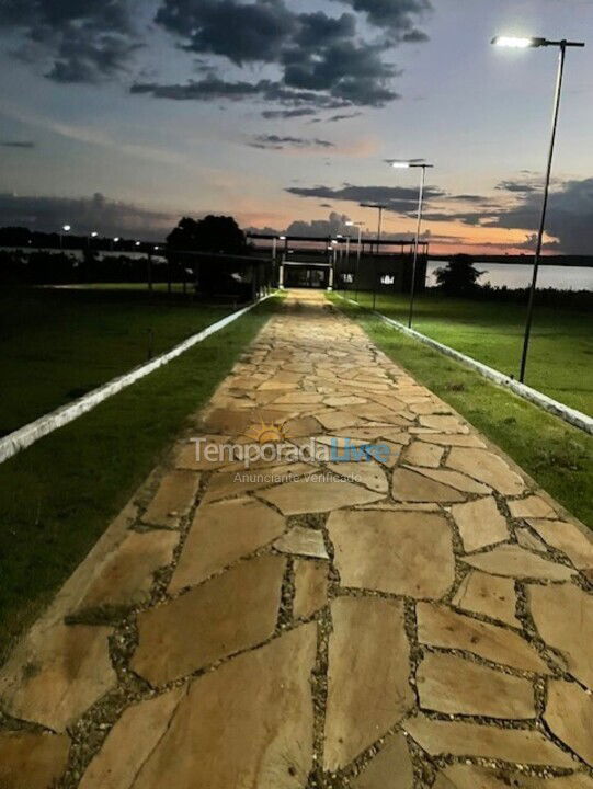
[[0, 296], [0, 435], [163, 353], [232, 311], [127, 288]]

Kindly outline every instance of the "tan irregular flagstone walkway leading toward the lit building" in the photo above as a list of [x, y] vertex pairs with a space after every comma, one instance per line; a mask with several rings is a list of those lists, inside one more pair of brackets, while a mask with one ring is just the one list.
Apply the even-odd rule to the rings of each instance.
[[[215, 457], [278, 428], [333, 457]], [[0, 787], [593, 787], [584, 527], [322, 294], [194, 435], [0, 670]]]

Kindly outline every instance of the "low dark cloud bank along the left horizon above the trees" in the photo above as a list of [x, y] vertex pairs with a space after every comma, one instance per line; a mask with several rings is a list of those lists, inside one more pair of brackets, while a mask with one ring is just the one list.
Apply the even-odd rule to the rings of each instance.
[[67, 221], [75, 233], [96, 230], [105, 236], [160, 240], [178, 219], [102, 194], [80, 198], [0, 194], [0, 226], [24, 226], [45, 232], [56, 231]]

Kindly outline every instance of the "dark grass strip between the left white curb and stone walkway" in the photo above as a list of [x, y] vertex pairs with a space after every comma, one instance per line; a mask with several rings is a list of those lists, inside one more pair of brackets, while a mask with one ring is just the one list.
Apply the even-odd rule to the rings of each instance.
[[265, 301], [0, 465], [0, 663], [274, 310]]

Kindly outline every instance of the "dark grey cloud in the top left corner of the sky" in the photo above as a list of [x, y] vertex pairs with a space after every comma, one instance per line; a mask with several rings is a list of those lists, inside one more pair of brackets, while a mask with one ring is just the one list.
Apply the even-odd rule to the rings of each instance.
[[0, 27], [21, 36], [13, 54], [48, 64], [58, 82], [100, 82], [140, 45], [130, 0], [3, 0]]

